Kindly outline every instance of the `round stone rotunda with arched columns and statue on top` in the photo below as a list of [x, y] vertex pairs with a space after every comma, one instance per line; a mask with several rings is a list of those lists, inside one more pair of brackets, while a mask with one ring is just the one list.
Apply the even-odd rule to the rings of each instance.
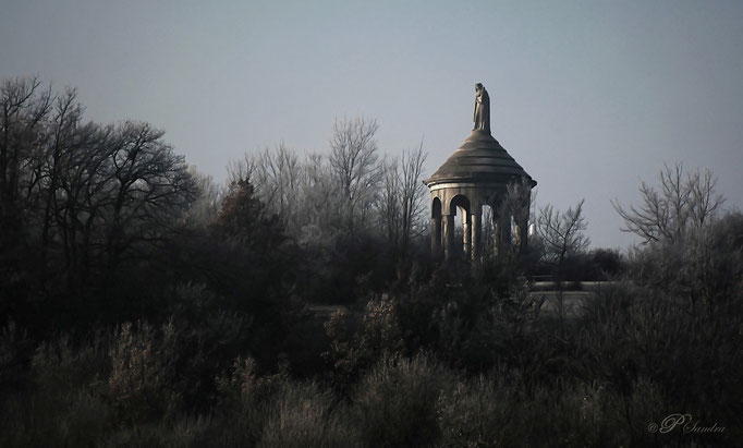
[[[524, 171], [490, 134], [490, 98], [482, 84], [475, 86], [475, 126], [472, 134], [441, 167], [424, 181], [431, 194], [431, 251], [447, 259], [460, 251], [454, 242], [454, 217], [462, 216], [462, 253], [479, 258], [482, 253], [483, 207], [491, 208], [494, 247], [503, 254], [506, 244], [526, 247], [529, 194], [506, 203], [510, 185], [525, 185], [526, 193], [537, 182]], [[513, 238], [512, 238], [513, 231]]]

